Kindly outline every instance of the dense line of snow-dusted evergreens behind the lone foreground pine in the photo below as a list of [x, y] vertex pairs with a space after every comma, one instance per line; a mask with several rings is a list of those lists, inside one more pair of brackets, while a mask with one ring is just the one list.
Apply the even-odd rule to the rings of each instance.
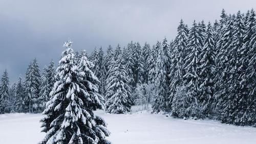
[[[188, 27], [183, 20], [177, 36], [153, 46], [131, 41], [126, 47], [102, 47], [91, 54], [74, 52], [78, 65], [86, 56], [97, 77], [106, 111], [130, 112], [131, 105], [152, 105], [153, 112], [175, 118], [218, 119], [222, 123], [256, 126], [256, 20], [254, 10], [226, 14], [213, 24]], [[41, 72], [36, 60], [25, 80], [9, 85], [1, 79], [1, 113], [41, 112], [59, 79], [53, 62]]]

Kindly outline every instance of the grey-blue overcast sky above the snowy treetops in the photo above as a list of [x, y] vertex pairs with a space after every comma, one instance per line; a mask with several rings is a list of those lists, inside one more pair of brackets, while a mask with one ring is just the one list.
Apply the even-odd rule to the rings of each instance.
[[7, 69], [11, 81], [24, 76], [30, 61], [40, 67], [55, 64], [63, 41], [74, 42], [75, 50], [109, 44], [123, 47], [131, 40], [151, 45], [176, 36], [182, 18], [214, 21], [222, 9], [227, 13], [256, 8], [255, 0], [169, 1], [35, 1], [0, 0], [0, 74]]

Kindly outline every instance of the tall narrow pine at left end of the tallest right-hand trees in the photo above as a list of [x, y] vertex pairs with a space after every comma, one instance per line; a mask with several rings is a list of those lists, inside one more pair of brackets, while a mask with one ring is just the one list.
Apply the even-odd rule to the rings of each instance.
[[[181, 19], [180, 24], [178, 26], [178, 34], [173, 43], [173, 52], [171, 53], [172, 62], [170, 63], [170, 96], [168, 98], [168, 106], [172, 107], [172, 100], [175, 96], [177, 87], [181, 87], [183, 84], [183, 76], [184, 76], [184, 58], [185, 58], [185, 50], [187, 45], [187, 30], [186, 26]], [[173, 115], [178, 113], [173, 112]]]

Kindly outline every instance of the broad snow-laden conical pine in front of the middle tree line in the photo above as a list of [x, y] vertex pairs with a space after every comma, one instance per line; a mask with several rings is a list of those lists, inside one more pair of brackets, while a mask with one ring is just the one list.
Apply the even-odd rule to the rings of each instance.
[[105, 103], [110, 113], [127, 113], [131, 110], [131, 89], [122, 57], [114, 61], [106, 79]]

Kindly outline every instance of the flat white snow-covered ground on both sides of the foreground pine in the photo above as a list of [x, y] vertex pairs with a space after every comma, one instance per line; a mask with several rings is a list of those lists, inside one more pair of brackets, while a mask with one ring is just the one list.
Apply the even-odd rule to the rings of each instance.
[[[180, 120], [134, 111], [132, 114], [106, 114], [96, 111], [108, 122], [114, 144], [152, 143], [255, 143], [256, 128], [237, 127], [216, 121]], [[1, 144], [35, 144], [40, 133], [41, 114], [1, 114]]]

